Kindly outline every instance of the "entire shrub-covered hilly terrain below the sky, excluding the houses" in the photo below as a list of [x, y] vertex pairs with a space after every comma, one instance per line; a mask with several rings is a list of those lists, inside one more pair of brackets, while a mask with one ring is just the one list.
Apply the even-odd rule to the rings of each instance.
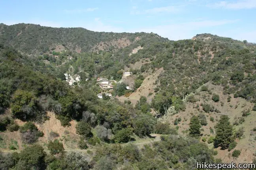
[[255, 61], [256, 44], [207, 33], [0, 24], [0, 169], [255, 163]]

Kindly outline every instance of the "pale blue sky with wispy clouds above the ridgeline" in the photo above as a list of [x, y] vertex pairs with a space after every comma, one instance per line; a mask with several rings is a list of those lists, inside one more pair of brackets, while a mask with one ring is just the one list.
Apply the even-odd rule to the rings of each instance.
[[171, 40], [212, 33], [256, 42], [256, 0], [1, 0], [0, 23], [153, 32]]

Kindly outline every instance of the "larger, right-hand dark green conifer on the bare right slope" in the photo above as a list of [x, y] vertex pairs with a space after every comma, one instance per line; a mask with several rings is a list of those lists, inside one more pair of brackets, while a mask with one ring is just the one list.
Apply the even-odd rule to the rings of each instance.
[[230, 124], [229, 119], [227, 115], [220, 116], [220, 120], [215, 127], [215, 147], [220, 146], [222, 149], [226, 149], [234, 141], [233, 126]]

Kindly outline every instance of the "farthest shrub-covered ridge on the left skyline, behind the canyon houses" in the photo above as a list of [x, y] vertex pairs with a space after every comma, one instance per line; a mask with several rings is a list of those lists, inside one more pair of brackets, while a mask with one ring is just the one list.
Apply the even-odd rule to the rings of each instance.
[[58, 50], [58, 45], [79, 53], [115, 51], [145, 36], [149, 34], [94, 32], [85, 28], [51, 28], [35, 24], [0, 24], [0, 43], [9, 44], [26, 54], [42, 54], [56, 48]]

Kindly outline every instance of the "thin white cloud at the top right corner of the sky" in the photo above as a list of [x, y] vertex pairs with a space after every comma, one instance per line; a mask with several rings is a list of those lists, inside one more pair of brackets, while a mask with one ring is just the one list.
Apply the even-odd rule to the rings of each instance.
[[256, 0], [239, 0], [237, 2], [221, 1], [215, 4], [208, 4], [207, 6], [226, 9], [253, 9], [256, 8]]

